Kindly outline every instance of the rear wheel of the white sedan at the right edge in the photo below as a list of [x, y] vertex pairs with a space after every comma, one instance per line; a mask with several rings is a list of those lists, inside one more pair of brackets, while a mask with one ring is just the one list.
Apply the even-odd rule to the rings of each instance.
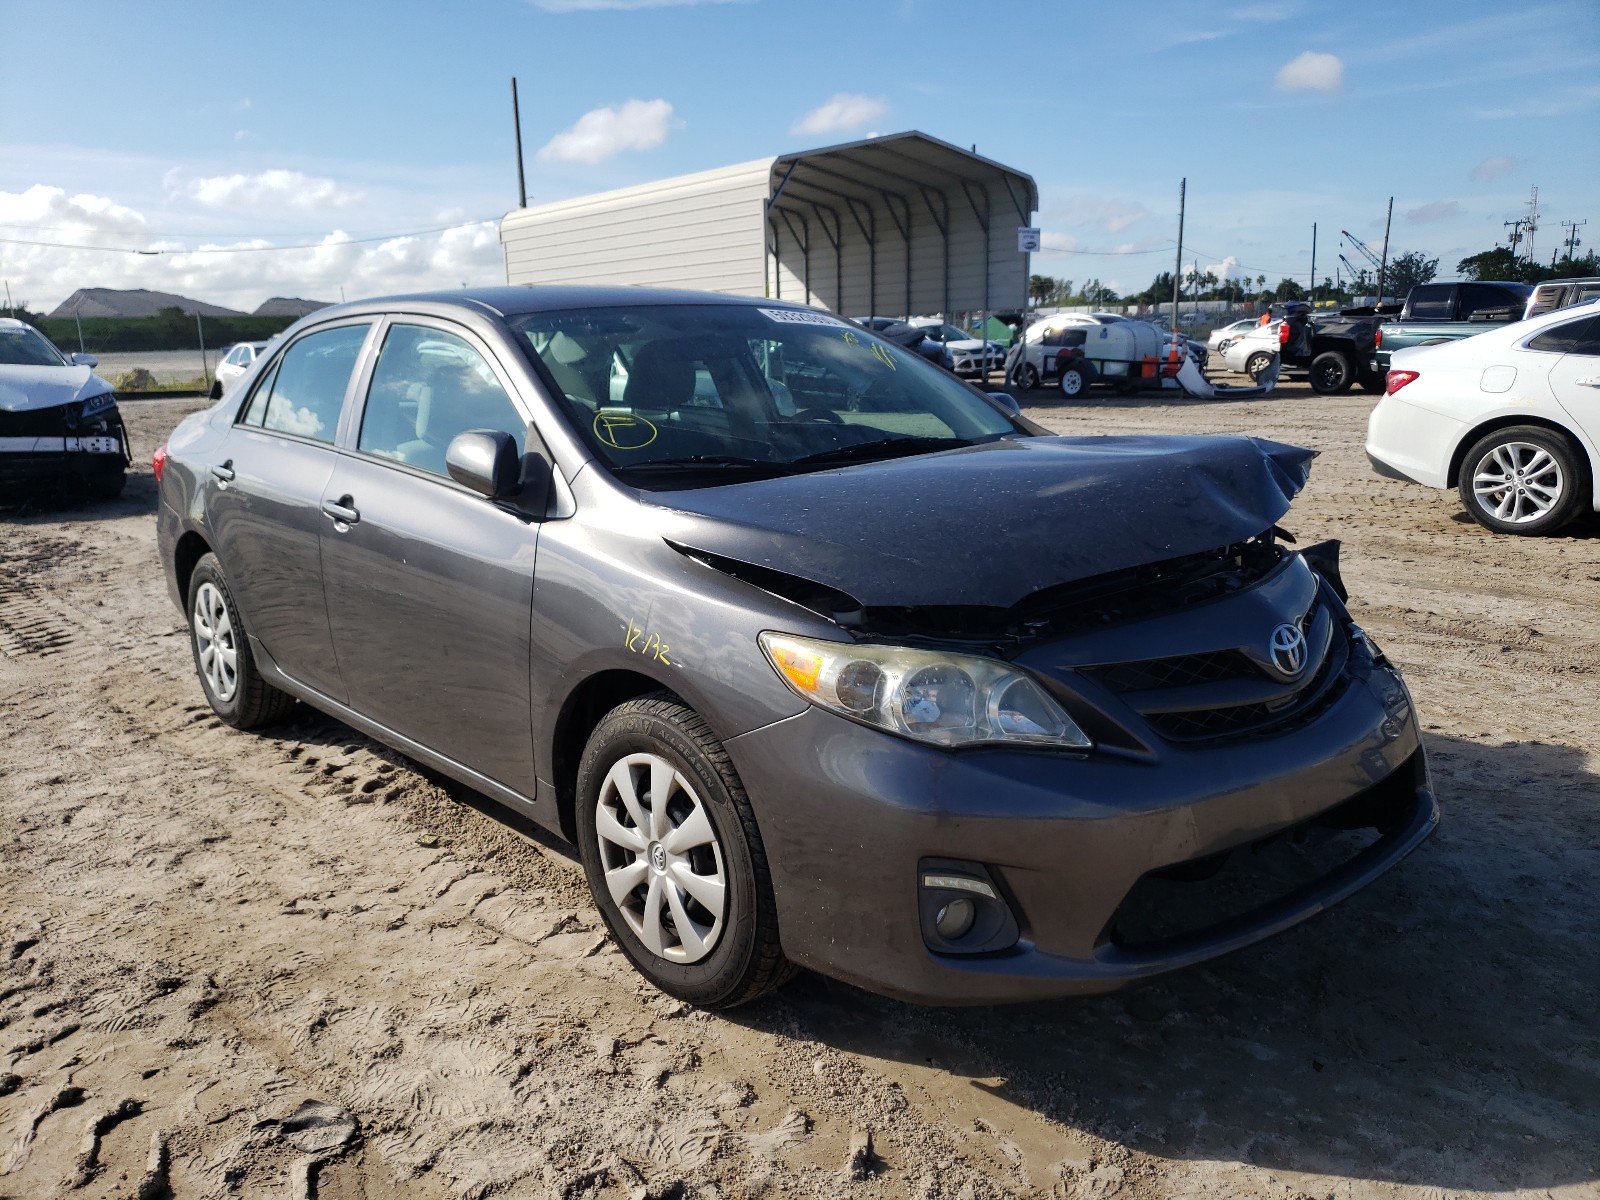
[[[1544, 451], [1554, 466], [1546, 464], [1538, 451]], [[1526, 478], [1517, 470], [1523, 466], [1533, 467]], [[1510, 478], [1498, 480], [1504, 486], [1491, 491], [1493, 475]], [[1485, 488], [1483, 494], [1475, 483]], [[1518, 488], [1515, 494], [1510, 491], [1514, 486]], [[1510, 426], [1472, 445], [1461, 459], [1456, 491], [1467, 514], [1485, 530], [1531, 538], [1555, 533], [1582, 512], [1589, 472], [1582, 451], [1565, 434], [1541, 426]], [[1506, 515], [1498, 515], [1499, 510]]]

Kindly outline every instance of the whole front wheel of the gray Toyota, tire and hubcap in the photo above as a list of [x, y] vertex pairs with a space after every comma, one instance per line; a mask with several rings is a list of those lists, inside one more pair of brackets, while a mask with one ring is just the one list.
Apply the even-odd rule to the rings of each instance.
[[792, 974], [755, 814], [693, 709], [658, 693], [606, 714], [578, 766], [576, 816], [600, 915], [662, 992], [731, 1008]]

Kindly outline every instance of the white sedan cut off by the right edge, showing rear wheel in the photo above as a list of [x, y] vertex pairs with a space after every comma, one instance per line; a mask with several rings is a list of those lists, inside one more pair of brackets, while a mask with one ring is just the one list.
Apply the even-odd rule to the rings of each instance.
[[1496, 533], [1600, 510], [1600, 301], [1398, 350], [1366, 458], [1379, 475], [1456, 488]]

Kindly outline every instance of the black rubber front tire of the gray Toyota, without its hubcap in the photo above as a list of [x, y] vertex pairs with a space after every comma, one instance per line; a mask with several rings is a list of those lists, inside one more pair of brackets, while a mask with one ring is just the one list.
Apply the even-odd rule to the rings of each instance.
[[[611, 862], [616, 869], [627, 866], [627, 851], [610, 842], [602, 846], [597, 806], [611, 770], [627, 755], [638, 754], [666, 760], [691, 786], [693, 797], [677, 790], [672, 798], [678, 803], [698, 798], [715, 835], [726, 907], [720, 936], [699, 960], [672, 962], [653, 952], [629, 925], [606, 883], [606, 856], [616, 859], [618, 853], [622, 854]], [[638, 802], [646, 803], [643, 795]], [[733, 1008], [765, 995], [794, 974], [778, 941], [771, 872], [744, 784], [704, 718], [677, 696], [666, 691], [643, 696], [618, 706], [600, 720], [578, 765], [576, 824], [589, 890], [611, 938], [634, 968], [662, 992], [701, 1008]], [[654, 862], [656, 848], [667, 840], [651, 842], [642, 851], [642, 861]], [[646, 890], [642, 882], [624, 901], [635, 902], [638, 893]], [[680, 890], [680, 902], [686, 899], [688, 893]]]

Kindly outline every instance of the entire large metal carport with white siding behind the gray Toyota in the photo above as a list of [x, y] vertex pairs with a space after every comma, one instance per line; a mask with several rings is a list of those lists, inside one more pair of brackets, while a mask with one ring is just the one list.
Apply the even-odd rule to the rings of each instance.
[[757, 158], [518, 208], [509, 283], [794, 299], [846, 315], [1024, 307], [1034, 179], [925, 133]]

